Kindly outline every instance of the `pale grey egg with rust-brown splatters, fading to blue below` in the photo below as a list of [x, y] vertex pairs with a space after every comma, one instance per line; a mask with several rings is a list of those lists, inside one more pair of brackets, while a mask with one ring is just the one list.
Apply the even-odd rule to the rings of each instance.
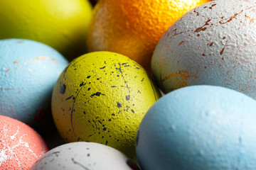
[[189, 11], [164, 33], [151, 60], [168, 93], [208, 84], [256, 99], [255, 1], [211, 1]]

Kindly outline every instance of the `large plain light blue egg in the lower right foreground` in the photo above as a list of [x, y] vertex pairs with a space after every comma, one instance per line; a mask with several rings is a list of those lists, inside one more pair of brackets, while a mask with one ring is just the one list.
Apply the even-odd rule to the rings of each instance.
[[156, 101], [137, 132], [144, 170], [255, 170], [256, 101], [220, 86], [188, 86]]

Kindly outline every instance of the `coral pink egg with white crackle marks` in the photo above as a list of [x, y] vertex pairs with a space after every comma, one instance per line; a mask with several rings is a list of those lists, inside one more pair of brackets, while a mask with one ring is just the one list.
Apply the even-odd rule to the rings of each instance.
[[0, 115], [0, 169], [28, 170], [48, 152], [40, 135], [28, 125]]

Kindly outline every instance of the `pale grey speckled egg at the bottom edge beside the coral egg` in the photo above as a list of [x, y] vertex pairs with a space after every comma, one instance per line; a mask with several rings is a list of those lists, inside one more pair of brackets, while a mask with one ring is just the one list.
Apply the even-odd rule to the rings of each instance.
[[72, 142], [51, 149], [30, 170], [139, 170], [117, 149], [94, 142]]

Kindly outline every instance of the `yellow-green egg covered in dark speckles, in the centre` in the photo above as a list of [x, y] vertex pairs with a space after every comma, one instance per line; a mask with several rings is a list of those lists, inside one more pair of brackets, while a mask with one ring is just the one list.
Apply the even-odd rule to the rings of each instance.
[[65, 141], [101, 143], [133, 159], [139, 123], [160, 96], [137, 62], [90, 52], [70, 62], [56, 82], [53, 119]]

